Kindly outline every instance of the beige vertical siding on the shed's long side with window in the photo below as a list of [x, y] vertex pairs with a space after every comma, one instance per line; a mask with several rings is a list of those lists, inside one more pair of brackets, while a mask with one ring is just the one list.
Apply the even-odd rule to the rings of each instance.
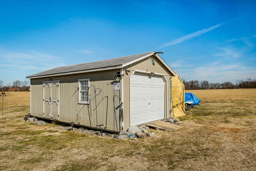
[[[31, 79], [31, 115], [42, 117], [42, 82], [51, 78], [60, 80], [60, 117], [59, 121], [74, 121], [76, 124], [96, 127], [103, 124], [105, 129], [119, 129], [118, 115], [114, 117], [115, 107], [119, 105], [120, 91], [114, 91], [111, 82], [116, 80], [116, 72], [119, 70], [106, 70], [67, 76]], [[90, 78], [90, 104], [78, 104], [78, 79]], [[96, 88], [96, 97], [94, 86]], [[56, 88], [56, 87], [54, 87]], [[53, 95], [56, 98], [56, 95]], [[96, 100], [96, 101], [95, 101]], [[96, 108], [97, 106], [97, 108]], [[53, 106], [56, 111], [56, 106]], [[97, 113], [97, 115], [96, 115]], [[54, 113], [56, 115], [56, 112]], [[116, 127], [116, 122], [118, 127]]]

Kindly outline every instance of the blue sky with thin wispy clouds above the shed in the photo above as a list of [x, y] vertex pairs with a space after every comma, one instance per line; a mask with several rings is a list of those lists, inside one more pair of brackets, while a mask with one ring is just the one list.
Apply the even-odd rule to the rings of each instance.
[[149, 51], [186, 81], [256, 79], [256, 1], [0, 0], [0, 80]]

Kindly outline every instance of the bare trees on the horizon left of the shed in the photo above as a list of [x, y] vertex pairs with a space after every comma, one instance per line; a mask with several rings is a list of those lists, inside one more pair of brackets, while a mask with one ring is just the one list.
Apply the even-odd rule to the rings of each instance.
[[28, 85], [28, 81], [24, 80], [24, 81], [20, 81], [20, 80], [16, 80], [14, 82], [12, 82], [12, 84], [7, 84], [5, 86], [3, 86], [4, 81], [0, 80], [0, 89], [1, 91], [8, 91], [9, 88], [18, 88], [20, 89], [20, 91], [29, 91], [30, 86]]

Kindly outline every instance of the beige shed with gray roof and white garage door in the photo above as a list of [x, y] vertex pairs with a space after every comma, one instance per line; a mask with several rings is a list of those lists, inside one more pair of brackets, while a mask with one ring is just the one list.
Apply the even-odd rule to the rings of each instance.
[[106, 131], [126, 130], [171, 117], [172, 77], [176, 73], [158, 52], [53, 68], [26, 77], [30, 113], [84, 127], [103, 125]]

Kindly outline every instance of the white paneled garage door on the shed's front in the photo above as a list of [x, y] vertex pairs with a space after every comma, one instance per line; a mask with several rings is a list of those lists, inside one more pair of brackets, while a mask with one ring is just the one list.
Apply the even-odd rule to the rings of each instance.
[[131, 125], [164, 119], [164, 80], [135, 73], [131, 78]]

